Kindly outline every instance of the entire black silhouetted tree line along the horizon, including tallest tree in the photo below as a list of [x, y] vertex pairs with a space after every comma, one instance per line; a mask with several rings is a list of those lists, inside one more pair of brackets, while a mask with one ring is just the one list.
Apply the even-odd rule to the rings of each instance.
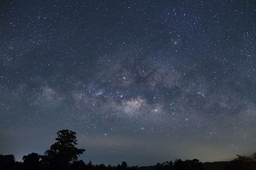
[[155, 166], [128, 166], [126, 162], [117, 166], [105, 166], [104, 164], [92, 165], [78, 161], [80, 154], [85, 149], [78, 149], [76, 133], [71, 130], [60, 130], [57, 132], [56, 142], [46, 150], [45, 154], [31, 153], [23, 156], [23, 162], [16, 162], [14, 155], [0, 155], [0, 169], [2, 170], [256, 170], [256, 153], [251, 157], [238, 155], [238, 158], [228, 162], [223, 168], [215, 166], [204, 166], [198, 159], [175, 162], [157, 163]]

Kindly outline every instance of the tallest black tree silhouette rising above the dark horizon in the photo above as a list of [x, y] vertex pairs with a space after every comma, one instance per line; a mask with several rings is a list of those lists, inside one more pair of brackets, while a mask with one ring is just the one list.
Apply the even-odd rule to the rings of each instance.
[[60, 130], [57, 132], [57, 142], [50, 146], [42, 156], [42, 162], [48, 169], [68, 169], [71, 162], [78, 159], [78, 156], [85, 152], [85, 149], [78, 149], [76, 133], [71, 130]]

